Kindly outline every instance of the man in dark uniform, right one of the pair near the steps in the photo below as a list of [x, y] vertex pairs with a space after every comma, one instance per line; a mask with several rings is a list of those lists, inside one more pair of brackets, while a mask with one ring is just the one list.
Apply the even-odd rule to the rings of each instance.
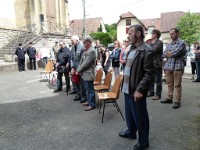
[[34, 70], [36, 70], [36, 49], [33, 47], [33, 43], [29, 43], [29, 47], [27, 48], [27, 54], [29, 56], [30, 60], [30, 69], [32, 70], [34, 67]]

